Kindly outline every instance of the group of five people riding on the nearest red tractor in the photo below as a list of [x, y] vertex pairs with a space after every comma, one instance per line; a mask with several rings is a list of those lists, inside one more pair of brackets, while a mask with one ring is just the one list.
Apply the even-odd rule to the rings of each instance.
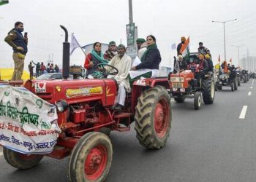
[[159, 63], [161, 55], [157, 48], [156, 38], [152, 35], [147, 36], [146, 40], [139, 38], [136, 41], [138, 46], [138, 59], [140, 63], [132, 64], [132, 58], [127, 55], [124, 44], [116, 46], [115, 41], [110, 41], [108, 50], [102, 53], [102, 44], [95, 42], [93, 50], [86, 56], [84, 67], [87, 69], [86, 78], [95, 79], [102, 78], [99, 63], [105, 64], [105, 70], [115, 71], [117, 74], [110, 74], [108, 78], [115, 79], [118, 83], [118, 95], [116, 105], [113, 109], [122, 111], [124, 109], [124, 101], [126, 92], [131, 92], [131, 84], [140, 77], [155, 77], [159, 71]]

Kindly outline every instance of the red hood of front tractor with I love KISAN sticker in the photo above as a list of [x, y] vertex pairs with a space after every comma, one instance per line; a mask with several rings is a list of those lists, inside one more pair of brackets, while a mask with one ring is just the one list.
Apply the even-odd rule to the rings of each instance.
[[33, 80], [25, 87], [49, 103], [59, 100], [67, 100], [69, 104], [101, 100], [103, 105], [113, 104], [117, 89], [113, 79]]

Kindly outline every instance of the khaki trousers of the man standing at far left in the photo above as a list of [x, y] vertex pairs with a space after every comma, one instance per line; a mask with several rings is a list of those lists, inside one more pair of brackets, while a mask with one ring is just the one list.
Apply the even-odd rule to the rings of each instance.
[[24, 68], [24, 58], [19, 58], [17, 52], [13, 52], [12, 59], [14, 61], [14, 71], [12, 74], [12, 81], [21, 80]]

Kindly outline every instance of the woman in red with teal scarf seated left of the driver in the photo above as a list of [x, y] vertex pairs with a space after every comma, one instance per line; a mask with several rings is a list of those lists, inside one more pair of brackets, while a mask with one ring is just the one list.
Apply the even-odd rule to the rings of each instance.
[[86, 56], [84, 67], [87, 69], [86, 77], [89, 79], [102, 78], [101, 72], [98, 71], [97, 65], [99, 63], [108, 63], [102, 54], [102, 44], [100, 42], [94, 43], [94, 49]]

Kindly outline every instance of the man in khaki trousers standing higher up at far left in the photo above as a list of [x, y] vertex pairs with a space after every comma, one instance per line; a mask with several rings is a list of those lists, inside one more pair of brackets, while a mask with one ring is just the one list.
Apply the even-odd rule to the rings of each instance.
[[12, 80], [21, 80], [21, 76], [23, 74], [24, 68], [24, 60], [26, 56], [26, 52], [28, 52], [28, 37], [25, 33], [23, 36], [23, 23], [16, 22], [15, 28], [8, 33], [7, 37], [5, 37], [4, 41], [7, 42], [12, 47], [13, 54], [12, 59], [14, 60], [14, 71], [12, 74]]

